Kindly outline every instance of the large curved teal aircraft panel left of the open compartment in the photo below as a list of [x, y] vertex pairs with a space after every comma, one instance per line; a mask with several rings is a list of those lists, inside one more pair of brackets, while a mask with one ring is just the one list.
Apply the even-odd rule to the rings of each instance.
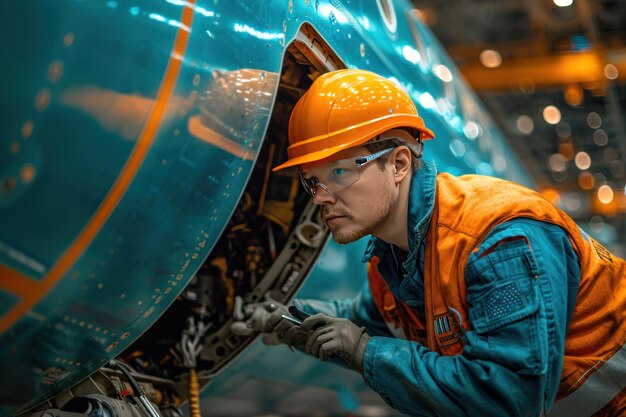
[[[0, 335], [0, 414], [82, 380], [139, 337], [192, 278], [239, 200], [269, 120], [281, 55], [257, 54], [243, 64], [261, 69], [241, 70], [249, 50], [224, 49], [243, 33], [235, 30], [238, 9], [216, 13], [211, 3], [194, 10], [185, 54], [176, 55], [177, 34], [189, 30], [184, 4], [4, 6], [0, 27], [15, 40], [8, 51], [15, 59], [2, 69], [11, 122], [0, 127], [0, 183], [10, 184], [0, 192], [0, 262], [35, 281], [52, 277], [54, 285], [17, 320], [8, 313], [20, 303], [0, 300], [0, 322], [9, 323]], [[278, 38], [250, 38], [253, 48], [280, 50]], [[171, 95], [144, 145], [162, 80], [178, 60]], [[253, 78], [246, 105], [235, 89], [221, 88]], [[135, 158], [143, 146], [145, 155]], [[120, 188], [131, 163], [136, 172]], [[16, 251], [24, 256], [9, 255]]]

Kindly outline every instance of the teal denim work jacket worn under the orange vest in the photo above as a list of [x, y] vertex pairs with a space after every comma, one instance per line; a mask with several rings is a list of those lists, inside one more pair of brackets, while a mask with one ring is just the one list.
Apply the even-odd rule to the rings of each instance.
[[[380, 257], [379, 271], [395, 297], [424, 317], [424, 237], [432, 214], [436, 168], [425, 162], [411, 182], [409, 252], [400, 265], [397, 248], [372, 237], [364, 260]], [[525, 240], [511, 240], [512, 237]], [[506, 241], [505, 241], [506, 239]], [[309, 312], [323, 312], [365, 326], [374, 336], [364, 358], [365, 382], [393, 408], [418, 416], [539, 416], [554, 402], [563, 365], [580, 269], [567, 233], [553, 224], [513, 219], [495, 227], [473, 253], [465, 276], [470, 323], [497, 317], [491, 310], [472, 309], [489, 297], [506, 300], [502, 283], [528, 278], [519, 268], [519, 245], [530, 243], [539, 272], [539, 308], [519, 320], [471, 328], [458, 356], [441, 356], [417, 342], [391, 336], [369, 292], [367, 280], [350, 300], [298, 300]], [[491, 250], [490, 250], [491, 248]], [[487, 252], [486, 255], [483, 255]]]

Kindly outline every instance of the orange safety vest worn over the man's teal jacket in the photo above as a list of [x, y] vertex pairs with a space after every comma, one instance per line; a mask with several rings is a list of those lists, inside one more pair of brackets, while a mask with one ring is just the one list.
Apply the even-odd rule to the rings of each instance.
[[464, 277], [469, 256], [495, 226], [520, 217], [562, 227], [581, 270], [557, 402], [550, 415], [599, 416], [626, 410], [626, 262], [525, 187], [490, 177], [439, 174], [426, 236], [425, 320], [393, 296], [378, 272], [380, 259], [372, 257], [369, 284], [378, 310], [395, 334], [400, 330], [408, 340], [442, 355], [460, 354], [461, 327], [471, 329]]

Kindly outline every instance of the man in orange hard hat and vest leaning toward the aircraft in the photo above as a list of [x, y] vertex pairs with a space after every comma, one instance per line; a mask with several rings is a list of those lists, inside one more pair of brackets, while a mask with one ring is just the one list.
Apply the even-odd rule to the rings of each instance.
[[300, 327], [278, 303], [247, 327], [343, 359], [407, 414], [626, 415], [626, 263], [531, 190], [437, 174], [433, 137], [383, 77], [316, 79], [275, 170], [298, 167], [335, 241], [372, 236], [368, 281], [296, 300], [314, 314]]

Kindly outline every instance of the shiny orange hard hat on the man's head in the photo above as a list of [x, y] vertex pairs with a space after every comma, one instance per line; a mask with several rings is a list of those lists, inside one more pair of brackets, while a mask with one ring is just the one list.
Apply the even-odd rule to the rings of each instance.
[[289, 119], [287, 162], [273, 171], [319, 161], [389, 129], [412, 128], [435, 135], [411, 97], [373, 72], [343, 69], [320, 75], [298, 100]]

